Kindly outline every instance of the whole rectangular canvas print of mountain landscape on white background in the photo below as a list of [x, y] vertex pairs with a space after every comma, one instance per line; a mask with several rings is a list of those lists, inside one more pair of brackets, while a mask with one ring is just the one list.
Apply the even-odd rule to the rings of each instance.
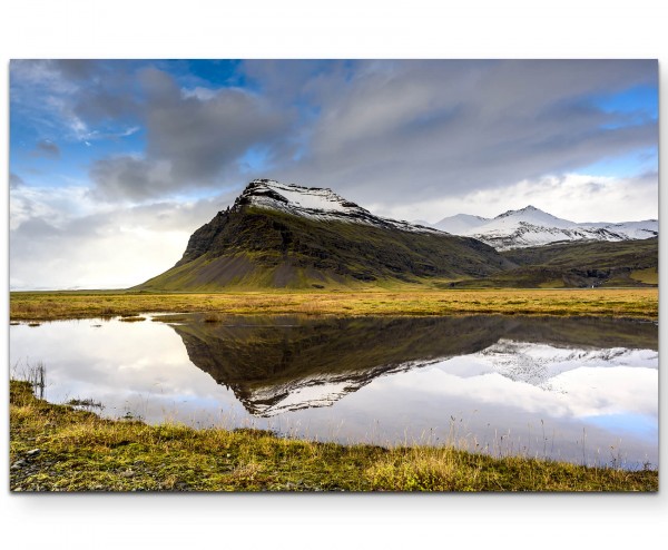
[[656, 60], [9, 86], [12, 492], [658, 490]]

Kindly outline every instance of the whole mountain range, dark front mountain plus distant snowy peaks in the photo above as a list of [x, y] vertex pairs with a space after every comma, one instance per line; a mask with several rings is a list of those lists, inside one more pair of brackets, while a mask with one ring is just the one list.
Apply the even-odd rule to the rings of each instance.
[[[135, 289], [658, 282], [656, 220], [574, 224], [529, 206], [493, 219], [459, 215], [436, 225], [374, 216], [331, 189], [256, 179], [190, 236], [174, 267]], [[638, 238], [644, 240], [630, 240]], [[549, 243], [559, 244], [536, 246]]]

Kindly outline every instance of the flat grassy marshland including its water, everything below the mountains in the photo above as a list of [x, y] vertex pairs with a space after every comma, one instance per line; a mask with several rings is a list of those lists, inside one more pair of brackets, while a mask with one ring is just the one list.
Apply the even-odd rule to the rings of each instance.
[[657, 298], [12, 293], [11, 488], [655, 491]]

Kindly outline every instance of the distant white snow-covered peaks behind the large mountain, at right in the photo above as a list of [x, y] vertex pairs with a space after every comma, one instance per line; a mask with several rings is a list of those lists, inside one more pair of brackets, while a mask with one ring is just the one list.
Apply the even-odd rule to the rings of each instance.
[[434, 227], [453, 235], [474, 237], [498, 251], [542, 246], [568, 240], [628, 240], [659, 234], [657, 219], [625, 223], [581, 223], [558, 218], [527, 206], [508, 210], [495, 218], [458, 214], [441, 219]]

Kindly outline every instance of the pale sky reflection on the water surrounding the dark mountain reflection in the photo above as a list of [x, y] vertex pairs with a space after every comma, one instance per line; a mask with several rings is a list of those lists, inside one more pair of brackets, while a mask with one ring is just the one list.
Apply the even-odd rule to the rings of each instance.
[[[101, 324], [101, 327], [94, 325]], [[455, 442], [471, 449], [589, 463], [658, 463], [658, 354], [500, 340], [481, 352], [345, 383], [302, 386], [281, 405], [332, 406], [252, 416], [190, 363], [163, 323], [68, 321], [11, 326], [10, 364], [47, 365], [46, 397], [92, 399], [104, 414], [148, 422], [268, 428], [342, 442]], [[342, 399], [336, 401], [341, 395]]]

